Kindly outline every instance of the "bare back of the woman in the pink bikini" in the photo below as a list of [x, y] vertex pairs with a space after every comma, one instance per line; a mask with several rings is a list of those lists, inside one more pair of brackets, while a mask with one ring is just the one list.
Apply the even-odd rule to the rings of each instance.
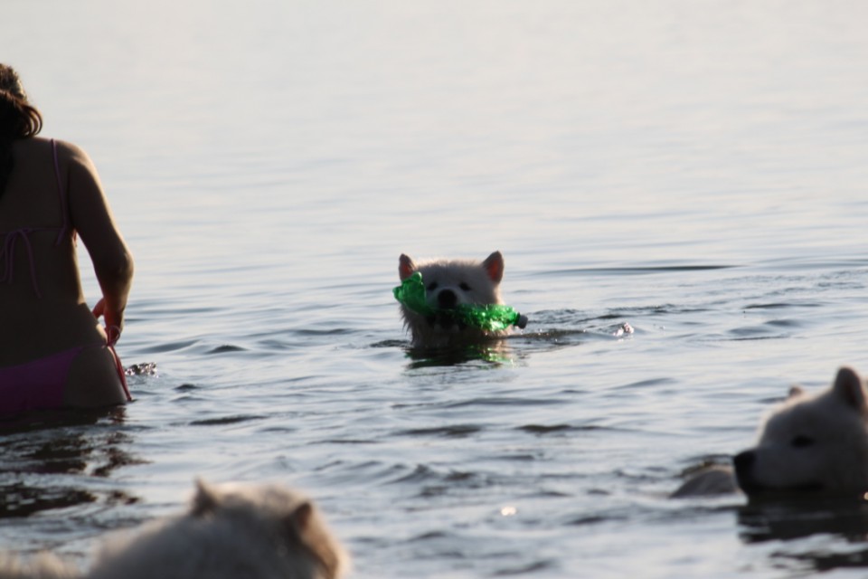
[[105, 340], [80, 289], [67, 147], [42, 138], [13, 144], [0, 196], [0, 367]]

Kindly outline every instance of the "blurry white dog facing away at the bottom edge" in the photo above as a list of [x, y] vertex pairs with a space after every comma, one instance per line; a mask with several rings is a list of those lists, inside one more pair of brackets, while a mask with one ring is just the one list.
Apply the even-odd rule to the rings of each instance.
[[188, 512], [110, 538], [81, 574], [0, 557], [0, 579], [336, 579], [348, 557], [314, 504], [274, 485], [196, 483]]

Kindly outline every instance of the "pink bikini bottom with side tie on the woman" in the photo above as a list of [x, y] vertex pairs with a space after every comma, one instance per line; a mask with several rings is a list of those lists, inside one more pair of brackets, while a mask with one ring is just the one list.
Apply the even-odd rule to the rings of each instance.
[[132, 400], [127, 387], [127, 375], [120, 358], [112, 346], [103, 344], [76, 346], [58, 354], [45, 356], [32, 362], [0, 368], [0, 413], [18, 413], [24, 410], [62, 408], [67, 376], [75, 356], [87, 347], [109, 347], [115, 356], [120, 383], [127, 401]]

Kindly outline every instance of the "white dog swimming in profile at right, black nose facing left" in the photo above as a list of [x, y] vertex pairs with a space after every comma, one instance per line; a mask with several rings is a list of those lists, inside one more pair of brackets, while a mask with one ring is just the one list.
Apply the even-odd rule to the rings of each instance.
[[741, 489], [749, 497], [821, 493], [861, 497], [868, 492], [868, 392], [843, 367], [819, 394], [793, 387], [769, 415], [760, 441], [737, 454], [732, 469], [713, 467], [687, 480], [674, 497]]

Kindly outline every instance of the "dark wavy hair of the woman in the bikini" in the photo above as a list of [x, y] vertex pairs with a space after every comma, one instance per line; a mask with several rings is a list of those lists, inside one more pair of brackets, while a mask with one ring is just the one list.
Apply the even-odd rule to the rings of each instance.
[[27, 94], [11, 66], [0, 63], [0, 195], [12, 175], [12, 143], [42, 130], [42, 115], [27, 102]]

